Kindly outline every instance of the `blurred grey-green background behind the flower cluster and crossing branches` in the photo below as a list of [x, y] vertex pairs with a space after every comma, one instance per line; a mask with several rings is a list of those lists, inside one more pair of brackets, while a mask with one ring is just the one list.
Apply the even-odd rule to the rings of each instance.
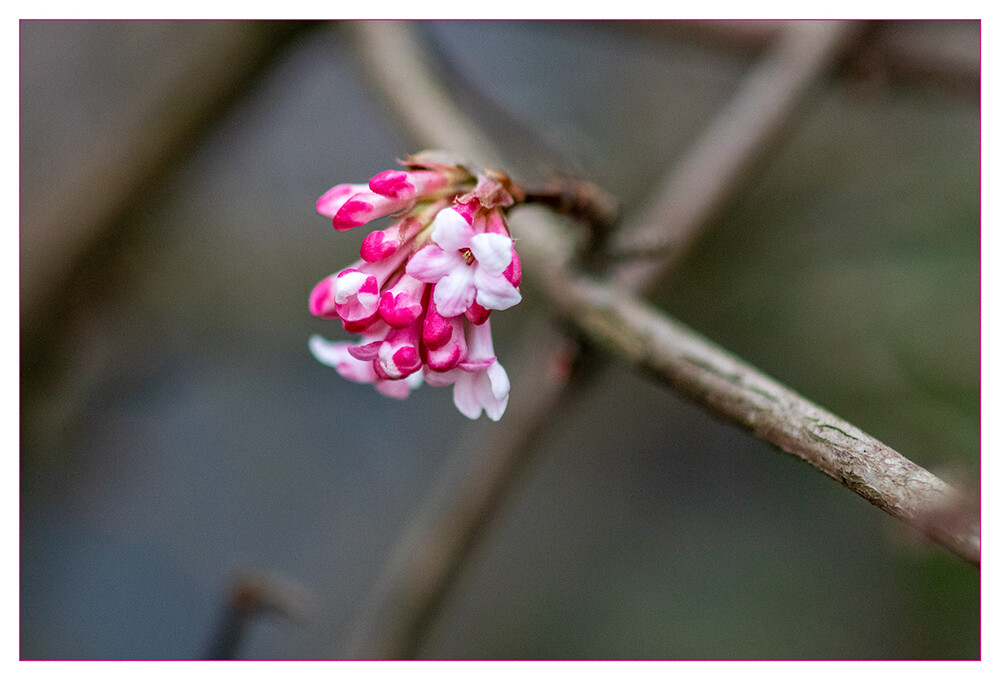
[[[628, 212], [769, 24], [429, 22], [523, 153]], [[654, 298], [978, 488], [979, 26], [880, 24]], [[330, 186], [416, 151], [344, 25], [20, 25], [22, 658], [208, 653], [237, 575], [302, 616], [241, 658], [337, 658], [471, 423], [315, 362], [363, 234]], [[465, 93], [460, 93], [465, 94]], [[544, 151], [540, 151], [544, 150]], [[518, 358], [544, 308], [496, 318]], [[979, 572], [608, 360], [465, 565], [424, 658], [978, 658]]]

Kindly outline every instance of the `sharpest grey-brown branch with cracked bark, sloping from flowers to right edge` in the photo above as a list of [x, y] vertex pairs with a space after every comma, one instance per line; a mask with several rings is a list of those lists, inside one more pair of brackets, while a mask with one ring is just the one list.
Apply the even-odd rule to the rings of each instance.
[[588, 338], [979, 563], [978, 518], [956, 489], [625, 289], [572, 273], [560, 258], [566, 247], [544, 217], [520, 224], [525, 266]]

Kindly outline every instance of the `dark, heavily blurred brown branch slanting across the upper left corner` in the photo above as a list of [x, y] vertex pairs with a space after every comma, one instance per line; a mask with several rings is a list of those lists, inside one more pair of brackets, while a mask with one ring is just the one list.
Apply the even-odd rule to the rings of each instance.
[[44, 196], [21, 209], [21, 332], [27, 363], [64, 312], [77, 268], [166, 170], [212, 129], [302, 24], [225, 22], [192, 30], [150, 62], [148, 87], [123, 104], [47, 178]]

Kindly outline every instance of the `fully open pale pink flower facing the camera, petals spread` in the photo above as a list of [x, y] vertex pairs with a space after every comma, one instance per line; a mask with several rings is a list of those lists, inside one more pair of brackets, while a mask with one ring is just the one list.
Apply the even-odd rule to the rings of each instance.
[[504, 274], [514, 261], [509, 236], [477, 233], [472, 220], [454, 208], [439, 212], [431, 226], [434, 244], [410, 258], [406, 273], [436, 284], [434, 302], [443, 316], [464, 314], [474, 302], [485, 309], [508, 309], [521, 301]]

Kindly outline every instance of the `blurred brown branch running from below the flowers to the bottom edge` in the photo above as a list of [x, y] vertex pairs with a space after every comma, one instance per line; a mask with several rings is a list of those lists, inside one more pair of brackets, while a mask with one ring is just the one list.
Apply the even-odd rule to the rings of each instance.
[[[517, 398], [499, 424], [474, 424], [455, 447], [427, 500], [365, 602], [347, 641], [349, 658], [413, 658], [448, 586], [502, 505], [547, 427], [567, 407], [579, 372], [576, 348], [547, 319], [533, 320], [511, 371]], [[539, 351], [540, 347], [547, 351]]]

